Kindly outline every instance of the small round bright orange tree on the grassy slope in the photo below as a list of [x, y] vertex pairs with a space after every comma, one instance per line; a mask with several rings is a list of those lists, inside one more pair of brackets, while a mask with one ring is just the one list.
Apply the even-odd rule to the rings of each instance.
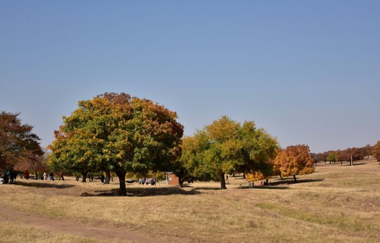
[[288, 146], [277, 153], [274, 166], [280, 171], [281, 176], [305, 175], [314, 172], [314, 158], [308, 145]]

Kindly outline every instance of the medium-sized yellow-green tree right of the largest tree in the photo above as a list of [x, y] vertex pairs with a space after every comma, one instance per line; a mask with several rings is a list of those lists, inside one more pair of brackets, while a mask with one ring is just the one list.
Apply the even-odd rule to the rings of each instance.
[[189, 174], [202, 180], [220, 181], [225, 189], [225, 173], [272, 173], [268, 164], [278, 142], [253, 121], [243, 125], [222, 116], [194, 136], [183, 139], [181, 160]]

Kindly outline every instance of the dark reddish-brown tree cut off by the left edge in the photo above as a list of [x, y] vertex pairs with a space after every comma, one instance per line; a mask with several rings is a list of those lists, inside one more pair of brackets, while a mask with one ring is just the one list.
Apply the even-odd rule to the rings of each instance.
[[40, 138], [32, 133], [33, 127], [22, 124], [20, 113], [0, 113], [0, 169], [9, 170], [43, 155]]

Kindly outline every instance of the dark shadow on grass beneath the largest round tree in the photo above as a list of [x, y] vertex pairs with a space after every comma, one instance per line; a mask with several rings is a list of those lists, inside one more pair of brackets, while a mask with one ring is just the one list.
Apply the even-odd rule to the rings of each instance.
[[[101, 193], [84, 192], [81, 196], [118, 196], [118, 188], [104, 191], [94, 191]], [[186, 191], [179, 187], [156, 187], [156, 188], [128, 188], [127, 196], [162, 196], [162, 195], [196, 195], [201, 192], [190, 190]]]

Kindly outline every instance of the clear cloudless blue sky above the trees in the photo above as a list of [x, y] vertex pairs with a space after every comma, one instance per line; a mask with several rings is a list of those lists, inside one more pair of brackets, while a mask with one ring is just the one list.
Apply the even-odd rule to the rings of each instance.
[[0, 110], [42, 145], [79, 100], [145, 97], [185, 135], [226, 114], [282, 147], [380, 140], [380, 1], [0, 1]]

